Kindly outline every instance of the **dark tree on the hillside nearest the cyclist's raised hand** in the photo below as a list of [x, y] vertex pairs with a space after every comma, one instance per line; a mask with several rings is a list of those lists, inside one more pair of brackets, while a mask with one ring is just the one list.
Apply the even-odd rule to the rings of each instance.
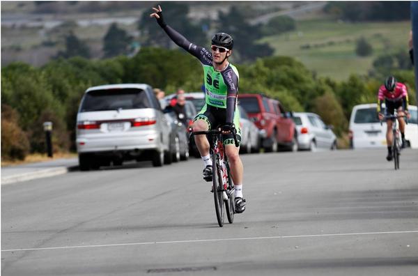
[[132, 40], [132, 36], [129, 36], [125, 30], [118, 28], [116, 23], [111, 24], [103, 38], [104, 57], [127, 54]]

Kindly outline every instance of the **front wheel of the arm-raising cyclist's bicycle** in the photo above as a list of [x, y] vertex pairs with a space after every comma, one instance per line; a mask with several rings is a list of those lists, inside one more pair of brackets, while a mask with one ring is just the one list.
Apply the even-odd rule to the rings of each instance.
[[217, 154], [212, 155], [212, 189], [213, 189], [213, 199], [215, 200], [215, 213], [219, 227], [224, 226], [224, 199], [222, 198], [222, 172], [219, 167], [219, 156]]

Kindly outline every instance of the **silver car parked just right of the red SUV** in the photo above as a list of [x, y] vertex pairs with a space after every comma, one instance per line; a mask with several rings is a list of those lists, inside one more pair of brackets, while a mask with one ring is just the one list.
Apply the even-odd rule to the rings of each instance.
[[336, 149], [336, 136], [330, 125], [325, 125], [318, 114], [294, 112], [297, 145], [300, 150], [316, 151], [317, 148]]

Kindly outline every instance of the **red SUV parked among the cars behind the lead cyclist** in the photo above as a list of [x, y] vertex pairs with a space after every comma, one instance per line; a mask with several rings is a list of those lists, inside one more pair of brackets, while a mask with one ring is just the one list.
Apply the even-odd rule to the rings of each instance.
[[266, 152], [277, 151], [279, 146], [297, 151], [295, 123], [278, 100], [261, 94], [238, 94], [238, 102], [261, 130]]

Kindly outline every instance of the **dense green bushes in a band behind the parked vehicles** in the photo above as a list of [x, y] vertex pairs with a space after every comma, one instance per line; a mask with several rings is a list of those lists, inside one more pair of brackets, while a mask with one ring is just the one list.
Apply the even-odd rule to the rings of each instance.
[[[341, 136], [347, 131], [353, 106], [375, 102], [384, 80], [371, 75], [352, 75], [344, 82], [318, 78], [300, 61], [288, 56], [272, 56], [235, 65], [240, 73], [240, 93], [264, 93], [280, 100], [286, 110], [317, 112], [325, 123], [334, 125], [336, 134]], [[412, 70], [393, 66], [387, 70], [399, 82], [407, 84], [410, 103], [415, 104]], [[51, 61], [41, 68], [12, 63], [1, 70], [1, 98], [3, 104], [15, 110], [16, 116], [8, 116], [15, 118], [10, 121], [3, 119], [2, 112], [1, 153], [4, 158], [24, 158], [29, 152], [29, 144], [31, 152], [44, 153], [44, 121], [54, 123], [54, 150], [74, 151], [77, 109], [84, 91], [90, 86], [146, 83], [167, 93], [178, 87], [200, 91], [202, 72], [200, 62], [183, 49], [150, 47], [143, 47], [132, 58], [116, 56], [91, 61], [73, 57]]]

